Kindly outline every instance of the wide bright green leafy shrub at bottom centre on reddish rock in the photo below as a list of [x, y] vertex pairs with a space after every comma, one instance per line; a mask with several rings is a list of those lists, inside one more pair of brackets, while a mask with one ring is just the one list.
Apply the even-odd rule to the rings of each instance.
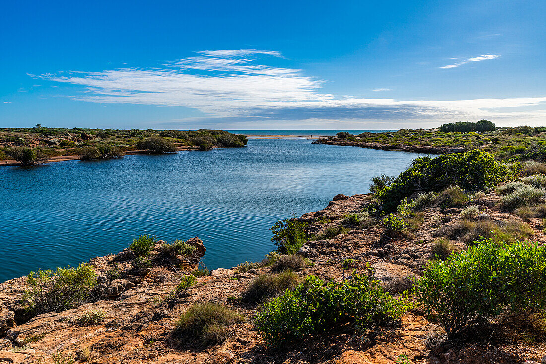
[[310, 275], [293, 291], [264, 304], [255, 324], [264, 340], [281, 345], [347, 324], [356, 330], [385, 324], [407, 308], [405, 298], [391, 297], [373, 276], [354, 273], [341, 283], [326, 283]]

